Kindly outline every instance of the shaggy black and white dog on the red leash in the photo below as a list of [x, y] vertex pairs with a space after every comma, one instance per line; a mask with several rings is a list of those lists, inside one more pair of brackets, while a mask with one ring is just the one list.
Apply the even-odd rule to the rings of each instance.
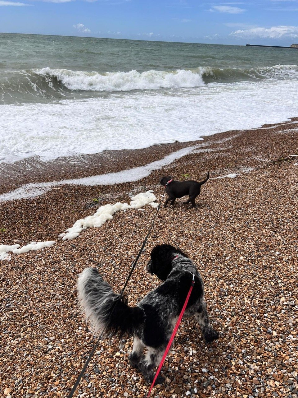
[[[119, 294], [114, 293], [95, 268], [85, 268], [80, 274], [77, 291], [83, 312], [95, 332], [104, 330], [112, 336], [134, 336], [130, 364], [151, 383], [153, 369], [159, 365], [170, 340], [193, 275], [194, 288], [184, 316], [195, 317], [207, 343], [217, 339], [219, 334], [209, 322], [202, 277], [185, 253], [171, 245], [157, 245], [151, 252], [147, 270], [164, 283], [148, 293], [135, 307], [128, 306], [125, 297], [120, 298]], [[147, 347], [146, 355], [143, 355], [144, 347]], [[163, 381], [164, 378], [159, 376], [156, 384]]]

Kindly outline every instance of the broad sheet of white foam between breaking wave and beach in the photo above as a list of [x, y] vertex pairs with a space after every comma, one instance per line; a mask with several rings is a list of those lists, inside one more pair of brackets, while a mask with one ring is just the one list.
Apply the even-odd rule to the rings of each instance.
[[298, 115], [298, 81], [210, 83], [0, 107], [0, 162], [197, 140]]

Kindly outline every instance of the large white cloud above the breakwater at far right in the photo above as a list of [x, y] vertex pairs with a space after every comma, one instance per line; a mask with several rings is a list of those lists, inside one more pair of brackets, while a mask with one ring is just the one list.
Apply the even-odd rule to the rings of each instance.
[[230, 36], [237, 36], [244, 39], [248, 37], [261, 37], [269, 39], [280, 39], [284, 37], [291, 37], [292, 39], [298, 37], [298, 26], [272, 26], [253, 27], [251, 29], [239, 29], [230, 33]]

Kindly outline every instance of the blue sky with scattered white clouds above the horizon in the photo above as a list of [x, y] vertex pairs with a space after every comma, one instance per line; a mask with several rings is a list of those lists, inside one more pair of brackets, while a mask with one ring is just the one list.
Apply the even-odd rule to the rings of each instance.
[[0, 0], [0, 32], [290, 46], [298, 0]]

